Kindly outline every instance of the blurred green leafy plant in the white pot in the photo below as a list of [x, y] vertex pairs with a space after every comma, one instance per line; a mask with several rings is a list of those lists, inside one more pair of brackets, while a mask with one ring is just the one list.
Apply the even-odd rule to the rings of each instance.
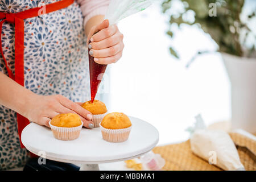
[[[165, 0], [162, 3], [163, 13], [168, 14], [171, 11], [174, 0]], [[218, 44], [217, 51], [230, 53], [236, 56], [254, 57], [256, 35], [247, 26], [247, 23], [255, 18], [255, 11], [247, 15], [246, 21], [242, 22], [241, 13], [245, 0], [179, 0], [183, 4], [183, 11], [170, 15], [170, 24], [198, 25], [204, 32], [208, 33]], [[210, 16], [211, 3], [216, 7], [216, 16]], [[194, 20], [191, 22], [185, 19], [185, 15], [193, 12]], [[167, 32], [171, 38], [175, 32], [172, 26]], [[247, 40], [254, 39], [249, 47]], [[170, 47], [173, 56], [179, 58], [175, 49]], [[199, 51], [205, 53], [207, 50]]]

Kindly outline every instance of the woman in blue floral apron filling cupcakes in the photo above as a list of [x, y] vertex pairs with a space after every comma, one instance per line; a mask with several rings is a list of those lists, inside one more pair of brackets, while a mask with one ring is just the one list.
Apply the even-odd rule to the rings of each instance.
[[79, 105], [90, 98], [86, 42], [94, 61], [110, 64], [122, 56], [123, 35], [102, 21], [106, 0], [0, 3], [0, 169], [10, 169], [29, 158], [19, 141], [28, 120], [48, 126], [59, 113], [77, 113], [92, 129]]

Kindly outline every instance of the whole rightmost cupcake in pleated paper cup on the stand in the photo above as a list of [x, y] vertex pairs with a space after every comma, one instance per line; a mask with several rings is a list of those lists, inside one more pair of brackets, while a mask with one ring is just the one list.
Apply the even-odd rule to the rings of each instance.
[[131, 131], [131, 121], [126, 114], [109, 113], [100, 123], [102, 138], [108, 142], [125, 142]]

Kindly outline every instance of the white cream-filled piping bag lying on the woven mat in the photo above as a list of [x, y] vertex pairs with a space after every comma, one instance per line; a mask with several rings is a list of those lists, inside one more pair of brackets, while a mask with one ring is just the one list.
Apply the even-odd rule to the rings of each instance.
[[200, 114], [195, 118], [195, 127], [187, 129], [191, 132], [192, 152], [224, 170], [244, 171], [237, 148], [229, 134], [221, 130], [207, 129]]

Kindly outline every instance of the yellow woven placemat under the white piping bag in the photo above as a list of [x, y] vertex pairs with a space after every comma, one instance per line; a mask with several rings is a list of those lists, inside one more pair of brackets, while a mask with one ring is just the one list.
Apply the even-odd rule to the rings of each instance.
[[[246, 170], [256, 171], [256, 159], [252, 151], [255, 150], [256, 144], [247, 137], [240, 134], [230, 134], [234, 143], [237, 145], [240, 160]], [[241, 145], [238, 145], [238, 143]], [[153, 149], [155, 154], [160, 154], [166, 160], [163, 170], [167, 171], [220, 171], [221, 169], [210, 165], [207, 161], [194, 155], [191, 151], [189, 140], [183, 143], [159, 146]]]

